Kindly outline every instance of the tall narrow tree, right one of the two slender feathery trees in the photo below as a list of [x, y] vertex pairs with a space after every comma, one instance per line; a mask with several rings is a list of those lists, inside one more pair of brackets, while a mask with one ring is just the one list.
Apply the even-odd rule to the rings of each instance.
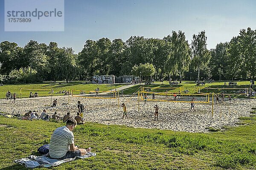
[[210, 51], [207, 50], [207, 37], [205, 31], [201, 31], [198, 35], [193, 35], [191, 44], [192, 48], [192, 65], [198, 71], [198, 81], [200, 80], [200, 70], [204, 70], [211, 58]]

